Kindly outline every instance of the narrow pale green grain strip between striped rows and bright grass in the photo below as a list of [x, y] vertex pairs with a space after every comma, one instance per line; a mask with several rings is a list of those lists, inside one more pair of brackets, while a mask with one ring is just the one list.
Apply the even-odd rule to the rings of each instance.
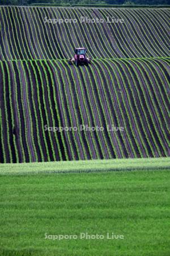
[[99, 172], [170, 169], [170, 158], [80, 160], [44, 163], [1, 164], [0, 175], [42, 172]]

